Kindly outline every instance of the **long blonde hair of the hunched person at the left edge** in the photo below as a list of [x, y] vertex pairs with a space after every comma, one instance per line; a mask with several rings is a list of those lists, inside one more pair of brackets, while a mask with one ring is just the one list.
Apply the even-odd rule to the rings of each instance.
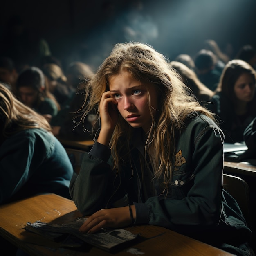
[[9, 88], [0, 83], [0, 137], [10, 137], [31, 128], [51, 131], [51, 126], [43, 116], [18, 101]]

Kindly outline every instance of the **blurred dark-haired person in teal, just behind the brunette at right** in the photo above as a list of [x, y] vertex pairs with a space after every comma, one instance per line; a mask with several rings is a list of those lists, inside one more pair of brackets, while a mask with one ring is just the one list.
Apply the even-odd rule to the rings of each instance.
[[217, 64], [216, 56], [209, 50], [202, 49], [195, 56], [195, 67], [198, 78], [212, 91], [216, 90], [221, 75]]

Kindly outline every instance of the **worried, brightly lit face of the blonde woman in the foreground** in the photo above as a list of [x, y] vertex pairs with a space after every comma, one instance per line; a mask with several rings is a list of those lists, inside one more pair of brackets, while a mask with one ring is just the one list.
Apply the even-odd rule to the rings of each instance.
[[[134, 128], [141, 127], [145, 132], [151, 127], [152, 117], [158, 109], [157, 89], [153, 84], [141, 84], [129, 72], [121, 72], [110, 79], [110, 93], [117, 101], [121, 116]], [[151, 106], [149, 106], [148, 92]]]

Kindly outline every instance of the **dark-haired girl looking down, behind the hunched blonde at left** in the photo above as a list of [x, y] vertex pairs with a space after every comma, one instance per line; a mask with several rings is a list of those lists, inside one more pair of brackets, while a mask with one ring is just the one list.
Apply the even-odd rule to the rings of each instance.
[[45, 76], [38, 67], [23, 70], [17, 79], [17, 95], [26, 106], [50, 121], [60, 109], [55, 97], [45, 86]]

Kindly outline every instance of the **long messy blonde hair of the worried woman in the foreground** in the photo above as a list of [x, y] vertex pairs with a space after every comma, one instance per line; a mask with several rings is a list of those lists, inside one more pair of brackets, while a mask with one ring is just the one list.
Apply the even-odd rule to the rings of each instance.
[[[147, 134], [145, 154], [153, 148], [155, 160], [150, 154], [149, 157], [151, 164], [156, 167], [155, 178], [163, 177], [165, 189], [168, 189], [173, 170], [172, 159], [175, 155], [177, 133], [182, 131], [185, 119], [188, 116], [196, 116], [199, 112], [212, 119], [214, 117], [187, 92], [180, 75], [168, 64], [165, 56], [156, 52], [150, 45], [136, 42], [115, 45], [110, 56], [103, 61], [86, 88], [86, 95], [90, 101], [86, 104], [83, 117], [89, 115], [95, 106], [99, 106], [103, 92], [109, 90], [110, 78], [122, 71], [130, 72], [141, 83], [153, 84], [159, 90], [158, 114], [154, 116], [151, 110], [153, 121]], [[150, 105], [149, 94], [148, 101]], [[97, 116], [99, 118], [98, 109]], [[119, 115], [110, 142], [117, 173], [121, 162], [127, 164], [127, 160], [130, 163], [132, 161], [130, 141], [133, 131], [134, 128]], [[142, 162], [141, 166], [143, 166]]]

